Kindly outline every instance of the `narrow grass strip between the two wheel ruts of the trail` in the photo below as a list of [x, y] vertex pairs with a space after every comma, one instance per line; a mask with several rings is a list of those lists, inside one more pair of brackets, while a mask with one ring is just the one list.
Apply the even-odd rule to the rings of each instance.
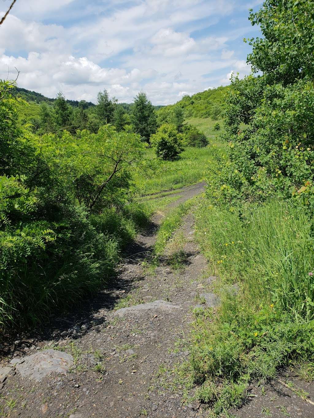
[[154, 247], [155, 255], [162, 255], [168, 240], [172, 236], [172, 233], [180, 227], [183, 216], [188, 213], [194, 202], [195, 198], [189, 199], [184, 203], [181, 203], [175, 209], [172, 209], [167, 214], [165, 219], [162, 221], [159, 231], [157, 232]]

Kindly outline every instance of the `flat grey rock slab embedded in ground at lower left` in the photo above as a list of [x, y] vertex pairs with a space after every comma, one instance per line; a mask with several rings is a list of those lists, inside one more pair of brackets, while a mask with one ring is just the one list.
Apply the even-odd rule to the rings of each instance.
[[15, 364], [16, 370], [21, 373], [22, 377], [29, 377], [36, 382], [40, 382], [53, 372], [65, 375], [74, 364], [70, 354], [52, 349], [23, 357], [23, 360], [22, 363]]

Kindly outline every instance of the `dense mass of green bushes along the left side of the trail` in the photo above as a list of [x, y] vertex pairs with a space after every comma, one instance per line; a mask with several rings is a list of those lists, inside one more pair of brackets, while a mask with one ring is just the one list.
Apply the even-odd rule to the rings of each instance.
[[[0, 82], [0, 325], [33, 323], [93, 293], [110, 273], [144, 212], [129, 201], [139, 135], [103, 125], [73, 130], [62, 94], [55, 132], [18, 124], [20, 99]], [[62, 109], [64, 112], [62, 112]], [[84, 109], [78, 108], [78, 111]], [[72, 110], [71, 110], [72, 111]], [[50, 115], [50, 113], [49, 113]], [[47, 121], [47, 108], [42, 107]]]

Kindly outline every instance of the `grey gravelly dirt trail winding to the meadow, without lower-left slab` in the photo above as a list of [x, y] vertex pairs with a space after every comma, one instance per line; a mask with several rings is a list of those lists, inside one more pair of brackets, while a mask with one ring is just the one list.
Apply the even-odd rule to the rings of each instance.
[[[180, 198], [169, 207], [203, 190], [203, 184], [181, 189]], [[70, 369], [66, 375], [51, 374], [40, 382], [22, 378], [19, 372], [7, 377], [2, 394], [7, 400], [16, 400], [10, 416], [196, 415], [192, 405], [181, 405], [181, 391], [174, 394], [160, 382], [167, 383], [170, 377], [165, 370], [188, 356], [188, 352], [175, 349], [175, 342], [189, 330], [192, 309], [197, 304], [194, 298], [203, 288], [198, 278], [206, 271], [206, 260], [192, 241], [193, 217], [189, 215], [182, 228], [186, 241], [184, 266], [173, 270], [161, 260], [150, 274], [142, 264], [153, 249], [162, 218], [162, 214], [156, 214], [146, 231], [129, 246], [110, 288], [80, 308], [80, 313], [57, 318], [32, 341], [16, 342], [13, 358], [36, 353], [36, 349], [39, 352], [43, 347], [72, 344], [74, 348], [66, 351], [73, 355], [76, 364], [72, 372]], [[165, 303], [157, 302], [157, 307], [148, 310], [147, 305], [145, 310], [139, 305], [136, 311], [119, 316], [113, 307], [119, 301], [123, 303], [124, 298], [131, 303]]]

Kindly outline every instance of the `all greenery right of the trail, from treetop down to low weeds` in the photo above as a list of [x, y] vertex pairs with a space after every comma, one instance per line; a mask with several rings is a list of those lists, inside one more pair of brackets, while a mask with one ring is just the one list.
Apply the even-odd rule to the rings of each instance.
[[195, 312], [181, 376], [213, 416], [239, 406], [253, 380], [313, 366], [313, 10], [267, 0], [250, 12], [263, 38], [248, 40], [247, 60], [263, 75], [233, 77], [211, 144], [196, 237], [221, 303]]

